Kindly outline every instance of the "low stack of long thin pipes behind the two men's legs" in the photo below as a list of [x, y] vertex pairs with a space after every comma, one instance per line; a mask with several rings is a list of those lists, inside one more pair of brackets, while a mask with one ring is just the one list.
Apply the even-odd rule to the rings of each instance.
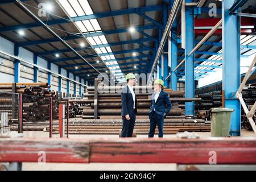
[[[137, 119], [134, 130], [137, 134], [148, 134], [149, 119]], [[119, 134], [122, 129], [122, 119], [70, 119], [69, 134]], [[48, 131], [47, 127], [45, 131]], [[183, 131], [210, 131], [210, 123], [203, 119], [164, 119], [164, 134], [177, 134]], [[59, 131], [53, 126], [53, 134]], [[66, 131], [67, 132], [67, 131]], [[155, 134], [158, 134], [156, 127]]]

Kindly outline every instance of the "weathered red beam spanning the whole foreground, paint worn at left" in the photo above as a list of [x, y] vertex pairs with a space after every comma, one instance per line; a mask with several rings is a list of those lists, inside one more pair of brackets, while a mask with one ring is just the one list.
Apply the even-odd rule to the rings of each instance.
[[0, 162], [256, 164], [256, 138], [29, 139], [1, 138]]

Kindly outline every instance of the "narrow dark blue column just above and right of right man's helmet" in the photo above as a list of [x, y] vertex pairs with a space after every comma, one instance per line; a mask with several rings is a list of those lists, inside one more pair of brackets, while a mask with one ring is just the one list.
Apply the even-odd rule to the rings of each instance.
[[[166, 28], [166, 23], [167, 23], [167, 19], [168, 19], [168, 9], [167, 9], [167, 5], [163, 5], [163, 28]], [[164, 52], [168, 52], [168, 39], [166, 41], [166, 43], [164, 44], [164, 48], [163, 48]], [[168, 79], [166, 80], [166, 77], [169, 75], [169, 69], [168, 69], [168, 53], [164, 53], [163, 56], [163, 63], [164, 63], [164, 70], [163, 70], [163, 80], [164, 80], [164, 86], [166, 86], [166, 88], [169, 87], [168, 85]]]

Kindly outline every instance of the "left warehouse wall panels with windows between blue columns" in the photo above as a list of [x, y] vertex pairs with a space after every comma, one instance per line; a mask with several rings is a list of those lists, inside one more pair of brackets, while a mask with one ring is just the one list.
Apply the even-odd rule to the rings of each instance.
[[[0, 50], [11, 55], [14, 55], [13, 42], [2, 38], [0, 36]], [[34, 53], [19, 47], [19, 57], [27, 61], [28, 63], [34, 63]], [[39, 67], [47, 69], [48, 61], [38, 57]], [[56, 64], [51, 63], [51, 71], [53, 73], [58, 73], [59, 67]], [[67, 76], [67, 70], [61, 68], [61, 75]], [[70, 74], [70, 78], [79, 82], [79, 77]], [[0, 82], [14, 82], [14, 63], [13, 61], [3, 59], [0, 57]], [[30, 64], [20, 63], [20, 78], [19, 82], [34, 82], [34, 67]], [[38, 71], [38, 82], [48, 82], [48, 74], [46, 71], [39, 69]], [[59, 90], [59, 77], [52, 74], [51, 89]], [[70, 81], [70, 91], [69, 93], [74, 93], [74, 82]], [[67, 93], [67, 80], [63, 78], [63, 85], [61, 86], [61, 92]], [[77, 85], [76, 94], [79, 95], [79, 85]]]

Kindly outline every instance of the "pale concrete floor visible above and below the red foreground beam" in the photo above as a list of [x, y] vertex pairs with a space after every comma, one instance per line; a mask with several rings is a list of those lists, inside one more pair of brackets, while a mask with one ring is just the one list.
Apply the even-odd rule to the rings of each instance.
[[[201, 138], [210, 137], [209, 132], [197, 132]], [[254, 137], [252, 131], [242, 130], [242, 137]], [[70, 135], [70, 138], [118, 138], [118, 135]], [[137, 138], [147, 138], [147, 135], [137, 135]], [[164, 135], [164, 138], [176, 138], [176, 135]], [[90, 163], [90, 164], [67, 164], [67, 163], [23, 163], [23, 170], [86, 170], [86, 171], [174, 171], [176, 164], [155, 164], [155, 163]]]

